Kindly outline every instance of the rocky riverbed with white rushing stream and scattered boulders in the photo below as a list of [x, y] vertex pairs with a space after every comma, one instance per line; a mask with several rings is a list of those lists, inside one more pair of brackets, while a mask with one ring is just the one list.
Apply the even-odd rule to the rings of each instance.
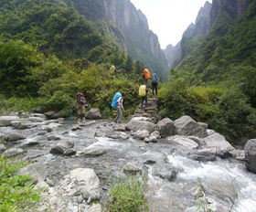
[[[111, 185], [128, 174], [146, 176], [151, 212], [203, 211], [198, 178], [213, 211], [256, 211], [256, 175], [246, 170], [244, 151], [188, 116], [77, 125], [21, 112], [0, 117], [0, 126], [0, 154], [32, 161], [19, 174], [47, 188], [31, 211], [103, 211]], [[248, 148], [250, 165], [255, 150]]]

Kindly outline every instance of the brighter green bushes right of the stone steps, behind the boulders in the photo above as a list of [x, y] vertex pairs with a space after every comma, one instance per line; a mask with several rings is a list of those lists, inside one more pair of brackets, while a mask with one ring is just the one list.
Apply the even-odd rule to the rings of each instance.
[[207, 122], [233, 144], [256, 136], [256, 109], [240, 87], [194, 86], [195, 75], [172, 72], [172, 78], [159, 91], [160, 114], [173, 120], [189, 115]]

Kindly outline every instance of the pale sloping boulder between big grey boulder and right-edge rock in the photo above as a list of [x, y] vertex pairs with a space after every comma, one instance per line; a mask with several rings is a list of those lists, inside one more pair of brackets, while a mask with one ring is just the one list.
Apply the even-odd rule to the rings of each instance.
[[217, 132], [204, 138], [203, 142], [206, 143], [209, 148], [215, 148], [217, 155], [222, 158], [229, 157], [230, 152], [235, 150], [225, 137]]

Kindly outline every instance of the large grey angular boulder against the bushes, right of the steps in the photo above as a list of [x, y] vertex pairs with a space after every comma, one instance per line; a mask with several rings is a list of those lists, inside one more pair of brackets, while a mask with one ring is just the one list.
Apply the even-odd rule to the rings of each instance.
[[197, 123], [190, 116], [182, 116], [174, 122], [175, 131], [178, 135], [197, 136], [205, 138], [208, 136], [207, 129], [202, 123]]

